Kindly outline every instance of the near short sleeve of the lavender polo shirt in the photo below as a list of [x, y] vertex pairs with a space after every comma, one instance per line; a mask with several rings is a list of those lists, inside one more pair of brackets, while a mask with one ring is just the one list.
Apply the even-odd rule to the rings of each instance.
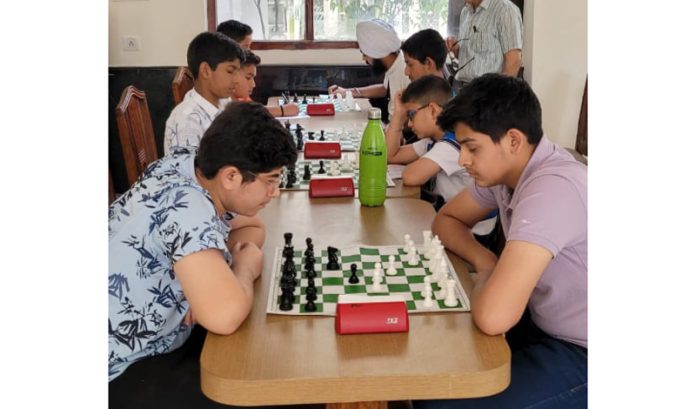
[[567, 179], [540, 176], [519, 193], [522, 196], [513, 210], [508, 240], [537, 244], [556, 257], [587, 234], [587, 204]]

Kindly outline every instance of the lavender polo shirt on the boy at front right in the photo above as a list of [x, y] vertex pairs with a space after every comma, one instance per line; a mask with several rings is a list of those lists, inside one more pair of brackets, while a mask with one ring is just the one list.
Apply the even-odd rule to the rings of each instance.
[[470, 191], [482, 206], [500, 209], [507, 240], [553, 254], [529, 298], [532, 320], [587, 347], [587, 167], [544, 136], [512, 195], [504, 185]]

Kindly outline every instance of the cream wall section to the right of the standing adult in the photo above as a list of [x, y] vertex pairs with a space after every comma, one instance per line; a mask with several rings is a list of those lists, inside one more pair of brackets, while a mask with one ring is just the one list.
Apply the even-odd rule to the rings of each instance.
[[545, 134], [575, 147], [587, 76], [587, 0], [526, 0], [522, 60]]

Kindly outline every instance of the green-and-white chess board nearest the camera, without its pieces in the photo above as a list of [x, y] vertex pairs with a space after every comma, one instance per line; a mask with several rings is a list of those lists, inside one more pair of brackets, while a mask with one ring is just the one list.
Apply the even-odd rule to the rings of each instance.
[[[319, 251], [321, 249], [321, 251]], [[457, 306], [447, 307], [444, 304], [444, 297], [438, 297], [439, 287], [437, 283], [431, 283], [433, 288], [434, 306], [426, 308], [423, 305], [423, 296], [421, 291], [424, 288], [423, 278], [426, 275], [431, 275], [427, 268], [427, 260], [422, 254], [422, 246], [416, 246], [418, 250], [419, 263], [415, 266], [409, 266], [406, 262], [406, 252], [401, 246], [349, 246], [339, 248], [339, 263], [340, 270], [326, 270], [328, 262], [327, 247], [315, 246], [315, 270], [317, 277], [314, 283], [317, 289], [317, 300], [314, 302], [316, 311], [309, 312], [305, 310], [307, 300], [305, 293], [307, 289], [308, 279], [304, 270], [304, 248], [294, 251], [295, 268], [297, 270], [297, 281], [299, 285], [295, 288], [295, 297], [292, 309], [282, 311], [280, 309], [280, 279], [282, 277], [283, 249], [276, 248], [275, 257], [272, 265], [272, 278], [269, 286], [268, 305], [266, 312], [268, 314], [284, 314], [284, 315], [336, 315], [336, 303], [340, 294], [356, 294], [356, 295], [401, 295], [406, 300], [406, 307], [409, 313], [426, 313], [426, 312], [446, 312], [446, 311], [470, 311], [469, 298], [467, 297], [459, 277], [452, 267], [452, 263], [445, 255], [447, 268], [450, 276], [455, 280], [454, 292], [457, 298]], [[396, 258], [395, 267], [397, 274], [395, 276], [384, 275], [382, 281], [382, 292], [376, 293], [372, 291], [372, 270], [376, 262], [381, 262], [384, 269], [389, 264], [389, 256], [394, 255]], [[357, 284], [349, 283], [348, 279], [351, 275], [350, 265], [355, 263], [358, 267], [357, 276], [359, 282]]]

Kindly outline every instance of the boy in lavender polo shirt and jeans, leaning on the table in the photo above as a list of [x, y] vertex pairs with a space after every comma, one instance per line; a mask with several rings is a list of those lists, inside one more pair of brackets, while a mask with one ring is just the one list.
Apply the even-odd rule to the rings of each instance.
[[[587, 407], [587, 167], [543, 136], [539, 100], [521, 79], [475, 79], [438, 125], [454, 130], [475, 186], [441, 209], [433, 231], [478, 273], [473, 319], [506, 333], [511, 381], [491, 397], [414, 407]], [[507, 238], [500, 258], [471, 234], [495, 208]]]

